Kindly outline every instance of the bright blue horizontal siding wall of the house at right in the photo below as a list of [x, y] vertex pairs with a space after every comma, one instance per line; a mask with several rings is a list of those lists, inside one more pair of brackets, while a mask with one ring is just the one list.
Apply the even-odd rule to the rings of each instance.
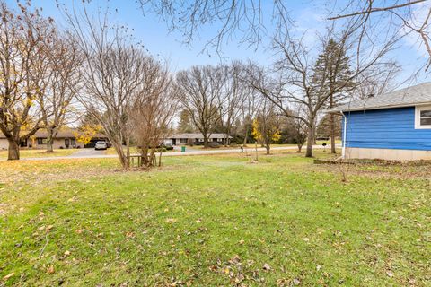
[[415, 129], [415, 107], [350, 111], [345, 115], [346, 147], [431, 151], [431, 129]]

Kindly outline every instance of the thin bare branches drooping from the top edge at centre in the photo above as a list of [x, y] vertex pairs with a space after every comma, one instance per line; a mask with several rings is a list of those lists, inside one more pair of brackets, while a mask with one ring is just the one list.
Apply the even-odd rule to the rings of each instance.
[[187, 44], [199, 36], [203, 26], [220, 25], [203, 48], [216, 48], [217, 54], [221, 53], [224, 41], [233, 36], [257, 47], [268, 33], [272, 33], [273, 27], [277, 30], [293, 26], [284, 0], [270, 3], [260, 0], [139, 0], [139, 3], [144, 12], [156, 13], [170, 30], [180, 30]]

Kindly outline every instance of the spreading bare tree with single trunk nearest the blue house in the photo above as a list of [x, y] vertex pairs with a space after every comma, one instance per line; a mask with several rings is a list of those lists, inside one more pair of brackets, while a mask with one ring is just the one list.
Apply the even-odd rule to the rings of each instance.
[[[346, 30], [340, 33], [338, 38], [345, 50], [356, 51], [355, 29], [347, 27]], [[360, 37], [360, 35], [358, 36]], [[326, 47], [328, 40], [334, 38], [333, 30], [329, 30], [327, 37], [321, 39], [321, 47]], [[344, 91], [347, 84], [350, 85], [353, 79], [371, 67], [381, 64], [380, 61], [393, 47], [395, 39], [387, 42], [382, 48], [372, 47], [369, 50], [367, 57], [356, 58], [355, 68], [348, 77], [337, 83], [337, 86], [332, 87], [329, 92], [326, 89], [326, 79], [329, 74], [330, 65], [334, 65], [333, 61], [324, 59], [325, 64], [321, 71], [321, 78], [316, 83], [313, 81], [313, 67], [316, 62], [310, 51], [304, 47], [301, 39], [292, 39], [290, 35], [279, 35], [279, 38], [274, 39], [274, 48], [279, 52], [280, 59], [276, 63], [276, 75], [272, 78], [268, 76], [268, 72], [255, 66], [250, 69], [249, 82], [259, 92], [261, 92], [269, 100], [286, 115], [303, 120], [308, 127], [307, 152], [305, 156], [312, 157], [312, 144], [314, 143], [314, 135], [316, 124], [318, 121], [321, 109], [325, 107], [331, 94], [336, 94], [339, 91]], [[361, 49], [365, 49], [362, 47]], [[364, 55], [364, 54], [363, 54]], [[384, 63], [384, 61], [383, 61]], [[330, 64], [330, 65], [329, 65]], [[336, 65], [336, 64], [335, 64]], [[292, 112], [290, 106], [303, 105], [305, 107], [305, 117]]]

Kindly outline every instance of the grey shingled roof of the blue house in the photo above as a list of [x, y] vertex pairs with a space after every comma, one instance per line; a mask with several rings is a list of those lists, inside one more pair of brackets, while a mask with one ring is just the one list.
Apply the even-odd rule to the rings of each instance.
[[382, 95], [349, 102], [326, 112], [355, 111], [366, 109], [391, 109], [431, 104], [431, 83], [421, 83], [416, 86], [391, 91]]

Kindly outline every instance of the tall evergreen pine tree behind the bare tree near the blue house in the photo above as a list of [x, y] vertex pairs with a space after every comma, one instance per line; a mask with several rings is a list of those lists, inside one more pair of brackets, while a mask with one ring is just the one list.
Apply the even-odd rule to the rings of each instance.
[[[313, 68], [312, 87], [315, 92], [329, 95], [324, 108], [333, 108], [345, 100], [354, 87], [349, 58], [342, 42], [330, 39]], [[330, 115], [330, 150], [335, 153], [335, 117]]]

